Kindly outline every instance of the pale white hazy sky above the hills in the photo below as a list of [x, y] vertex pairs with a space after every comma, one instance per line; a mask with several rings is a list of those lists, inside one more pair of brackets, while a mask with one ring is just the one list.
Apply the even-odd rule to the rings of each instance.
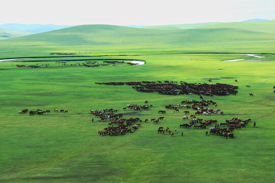
[[7, 0], [0, 24], [161, 25], [275, 19], [275, 0]]

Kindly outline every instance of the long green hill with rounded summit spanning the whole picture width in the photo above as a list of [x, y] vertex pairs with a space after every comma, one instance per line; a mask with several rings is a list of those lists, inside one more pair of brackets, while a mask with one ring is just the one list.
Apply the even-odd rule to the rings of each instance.
[[[272, 35], [273, 36], [273, 35]], [[271, 37], [273, 38], [273, 37]], [[238, 28], [155, 30], [116, 25], [78, 25], [57, 31], [1, 40], [5, 45], [230, 45], [270, 40], [262, 32]], [[273, 38], [274, 39], [274, 38]]]

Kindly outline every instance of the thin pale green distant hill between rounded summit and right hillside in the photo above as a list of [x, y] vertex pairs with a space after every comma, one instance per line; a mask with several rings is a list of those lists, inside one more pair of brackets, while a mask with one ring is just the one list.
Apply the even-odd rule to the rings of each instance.
[[221, 22], [205, 22], [205, 23], [190, 23], [190, 24], [175, 24], [175, 25], [153, 25], [153, 26], [146, 26], [144, 28], [158, 29], [158, 30], [176, 30], [176, 29], [188, 29], [188, 28], [201, 27], [205, 25], [213, 25], [217, 23], [221, 23]]

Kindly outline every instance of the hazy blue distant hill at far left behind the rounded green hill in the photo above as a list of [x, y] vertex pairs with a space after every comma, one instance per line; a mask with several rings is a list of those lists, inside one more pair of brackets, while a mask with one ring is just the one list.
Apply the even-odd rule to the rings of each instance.
[[10, 28], [17, 31], [24, 31], [29, 33], [44, 33], [54, 31], [61, 28], [70, 27], [70, 25], [42, 25], [42, 24], [18, 24], [18, 23], [7, 23], [0, 25], [2, 28]]

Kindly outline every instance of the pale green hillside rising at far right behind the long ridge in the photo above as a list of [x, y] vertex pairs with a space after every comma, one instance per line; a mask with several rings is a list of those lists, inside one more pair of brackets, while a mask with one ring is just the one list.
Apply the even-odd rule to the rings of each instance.
[[200, 28], [241, 28], [248, 29], [251, 31], [262, 31], [262, 32], [274, 32], [275, 20], [258, 21], [258, 22], [230, 22], [230, 23], [219, 23], [214, 25], [201, 26]]

